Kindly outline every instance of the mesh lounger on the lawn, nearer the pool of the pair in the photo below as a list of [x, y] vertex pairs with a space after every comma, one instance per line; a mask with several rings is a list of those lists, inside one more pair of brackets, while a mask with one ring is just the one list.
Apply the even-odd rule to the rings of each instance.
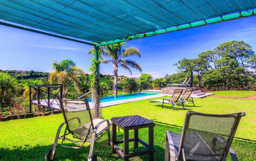
[[173, 111], [174, 111], [174, 105], [183, 106], [183, 109], [184, 109], [183, 101], [181, 101], [181, 99], [179, 98], [180, 95], [182, 94], [182, 91], [183, 91], [183, 89], [175, 89], [171, 98], [163, 98], [162, 100], [160, 100], [160, 99], [159, 100], [150, 100], [149, 105], [151, 102], [157, 102], [157, 105], [158, 105], [158, 102], [161, 102], [162, 108], [164, 106], [164, 103], [167, 103], [167, 104], [172, 104]]

